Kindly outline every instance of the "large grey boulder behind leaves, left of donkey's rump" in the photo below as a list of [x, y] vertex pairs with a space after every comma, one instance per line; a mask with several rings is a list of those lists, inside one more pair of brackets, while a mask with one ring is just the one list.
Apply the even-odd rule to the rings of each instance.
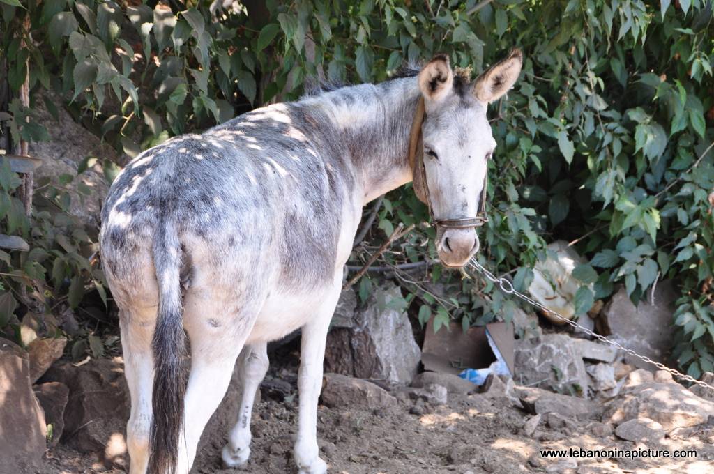
[[[29, 143], [30, 156], [41, 158], [43, 161], [42, 166], [35, 171], [35, 183], [41, 184], [43, 178], [56, 179], [63, 174], [75, 176], [73, 181], [63, 186], [69, 189], [72, 198], [70, 211], [86, 223], [99, 225], [101, 203], [104, 203], [106, 193], [109, 191], [109, 185], [102, 172], [101, 159], [106, 158], [123, 165], [127, 158], [119, 157], [109, 144], [103, 143], [101, 138], [76, 123], [64, 107], [59, 106], [62, 99], [47, 91], [43, 91], [41, 95], [42, 100], [35, 101], [33, 116], [37, 123], [45, 126], [49, 132], [49, 140]], [[46, 100], [58, 104], [59, 120], [55, 120], [47, 111], [44, 105]], [[76, 176], [79, 163], [87, 156], [99, 157], [100, 161]], [[91, 188], [91, 195], [85, 196], [79, 193], [80, 183]]]

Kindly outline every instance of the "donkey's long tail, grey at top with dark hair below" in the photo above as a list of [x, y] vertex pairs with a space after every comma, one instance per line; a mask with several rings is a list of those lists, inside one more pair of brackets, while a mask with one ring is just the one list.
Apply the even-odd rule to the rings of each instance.
[[[161, 222], [164, 221], [164, 222]], [[154, 388], [151, 397], [151, 450], [148, 474], [173, 474], [183, 424], [186, 393], [186, 334], [181, 297], [181, 243], [173, 225], [161, 219], [154, 240], [154, 266], [159, 283], [159, 317], [151, 349]]]

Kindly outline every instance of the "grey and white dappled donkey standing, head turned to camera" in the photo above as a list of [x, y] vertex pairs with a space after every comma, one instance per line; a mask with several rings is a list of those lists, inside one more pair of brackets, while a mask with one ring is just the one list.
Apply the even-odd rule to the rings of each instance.
[[100, 242], [131, 395], [131, 474], [188, 473], [239, 355], [243, 393], [222, 458], [244, 465], [266, 343], [297, 328], [294, 458], [301, 474], [326, 472], [316, 439], [325, 341], [362, 208], [413, 180], [441, 262], [467, 263], [496, 146], [487, 104], [521, 64], [512, 51], [471, 83], [438, 55], [418, 74], [171, 138], [124, 168]]

